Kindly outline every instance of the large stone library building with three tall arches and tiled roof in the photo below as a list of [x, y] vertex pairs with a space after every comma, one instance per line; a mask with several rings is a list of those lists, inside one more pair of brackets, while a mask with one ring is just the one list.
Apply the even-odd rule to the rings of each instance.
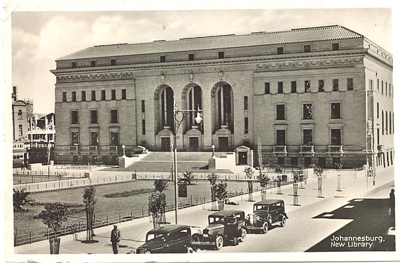
[[185, 119], [179, 150], [259, 139], [263, 163], [393, 163], [392, 55], [345, 27], [94, 46], [56, 62], [59, 162], [113, 163], [122, 144], [169, 151], [175, 98], [203, 119]]

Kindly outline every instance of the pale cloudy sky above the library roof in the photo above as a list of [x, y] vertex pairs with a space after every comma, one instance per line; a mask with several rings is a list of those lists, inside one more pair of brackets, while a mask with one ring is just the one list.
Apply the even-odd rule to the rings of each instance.
[[[289, 7], [289, 6], [288, 6]], [[205, 7], [206, 8], [206, 7]], [[11, 18], [12, 86], [34, 112], [54, 112], [55, 59], [89, 46], [343, 25], [392, 53], [390, 8], [208, 11], [18, 11]]]

